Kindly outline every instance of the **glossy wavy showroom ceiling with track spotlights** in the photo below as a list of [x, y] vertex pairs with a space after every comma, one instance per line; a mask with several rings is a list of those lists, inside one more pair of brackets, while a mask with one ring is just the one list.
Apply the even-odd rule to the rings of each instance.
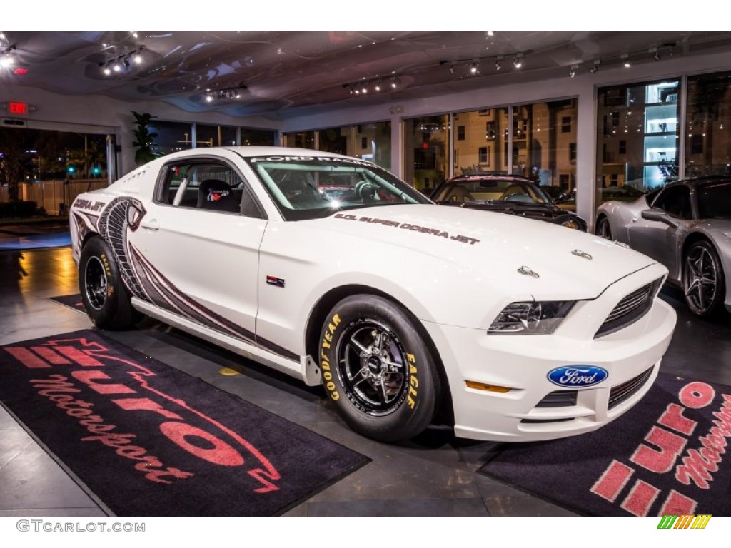
[[729, 31], [5, 31], [0, 82], [281, 120], [717, 51]]

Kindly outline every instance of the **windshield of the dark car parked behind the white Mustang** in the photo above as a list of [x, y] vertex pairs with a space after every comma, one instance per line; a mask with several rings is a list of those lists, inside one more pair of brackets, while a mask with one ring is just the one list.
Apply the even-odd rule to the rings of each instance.
[[548, 204], [551, 202], [539, 186], [530, 181], [510, 178], [465, 178], [446, 180], [436, 192], [435, 202], [477, 202], [504, 200]]

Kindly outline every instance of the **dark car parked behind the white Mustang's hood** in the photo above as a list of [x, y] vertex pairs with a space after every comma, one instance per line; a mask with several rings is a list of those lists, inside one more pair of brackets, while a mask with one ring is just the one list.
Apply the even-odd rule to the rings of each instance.
[[558, 207], [532, 180], [515, 175], [461, 175], [433, 190], [438, 204], [481, 209], [539, 219], [586, 232], [586, 221]]

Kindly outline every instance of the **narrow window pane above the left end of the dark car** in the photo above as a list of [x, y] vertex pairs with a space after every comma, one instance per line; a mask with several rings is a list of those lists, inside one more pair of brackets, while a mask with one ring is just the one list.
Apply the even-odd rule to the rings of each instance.
[[449, 176], [449, 117], [404, 120], [404, 180], [429, 194]]

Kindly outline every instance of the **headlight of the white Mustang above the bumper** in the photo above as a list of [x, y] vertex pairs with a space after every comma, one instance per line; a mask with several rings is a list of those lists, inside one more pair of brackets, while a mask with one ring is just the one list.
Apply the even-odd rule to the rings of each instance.
[[548, 335], [564, 321], [576, 301], [511, 302], [494, 319], [488, 333]]

